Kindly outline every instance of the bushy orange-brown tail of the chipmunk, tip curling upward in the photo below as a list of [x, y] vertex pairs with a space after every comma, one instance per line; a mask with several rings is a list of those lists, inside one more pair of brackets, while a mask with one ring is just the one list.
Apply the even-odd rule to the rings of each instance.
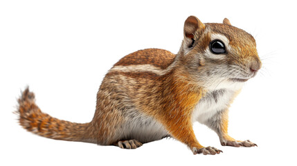
[[55, 140], [96, 142], [90, 123], [74, 123], [42, 113], [35, 104], [35, 95], [27, 88], [18, 100], [19, 124], [39, 136]]

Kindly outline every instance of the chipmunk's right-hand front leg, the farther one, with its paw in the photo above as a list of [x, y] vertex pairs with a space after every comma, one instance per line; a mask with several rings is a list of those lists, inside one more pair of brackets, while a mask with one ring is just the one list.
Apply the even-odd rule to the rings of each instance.
[[250, 140], [235, 140], [228, 135], [228, 109], [219, 111], [215, 114], [215, 116], [206, 120], [204, 124], [217, 133], [222, 146], [258, 147], [258, 145], [251, 142]]

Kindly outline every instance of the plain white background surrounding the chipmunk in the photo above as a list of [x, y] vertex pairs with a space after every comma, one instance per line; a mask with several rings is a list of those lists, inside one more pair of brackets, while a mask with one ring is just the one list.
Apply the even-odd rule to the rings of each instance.
[[[296, 165], [296, 5], [293, 1], [0, 1], [0, 165]], [[251, 33], [263, 68], [230, 111], [229, 133], [258, 147], [222, 147], [195, 124], [204, 146], [192, 155], [164, 139], [126, 150], [35, 136], [17, 124], [16, 99], [28, 85], [45, 113], [89, 122], [109, 68], [143, 48], [177, 53], [183, 22], [227, 17]]]

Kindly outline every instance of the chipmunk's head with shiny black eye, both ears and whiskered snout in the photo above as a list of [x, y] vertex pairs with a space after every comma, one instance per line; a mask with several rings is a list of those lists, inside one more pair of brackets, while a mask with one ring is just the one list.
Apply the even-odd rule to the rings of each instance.
[[203, 24], [197, 17], [186, 19], [178, 61], [206, 89], [240, 89], [262, 64], [255, 39], [230, 24]]

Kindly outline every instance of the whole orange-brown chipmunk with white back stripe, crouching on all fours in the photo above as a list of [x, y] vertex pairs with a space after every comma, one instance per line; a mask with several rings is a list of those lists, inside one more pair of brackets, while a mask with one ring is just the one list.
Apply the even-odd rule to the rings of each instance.
[[231, 26], [228, 19], [203, 24], [190, 16], [176, 55], [150, 48], [114, 64], [100, 85], [91, 122], [68, 122], [42, 113], [27, 88], [18, 100], [19, 123], [56, 140], [135, 149], [170, 136], [193, 154], [221, 153], [200, 145], [192, 128], [198, 121], [213, 129], [223, 146], [254, 147], [249, 140], [228, 135], [228, 108], [261, 66], [252, 35]]

